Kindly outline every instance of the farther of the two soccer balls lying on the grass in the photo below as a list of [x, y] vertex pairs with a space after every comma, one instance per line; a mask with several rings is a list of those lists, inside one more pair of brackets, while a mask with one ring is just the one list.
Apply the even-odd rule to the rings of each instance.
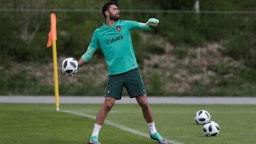
[[195, 121], [199, 125], [203, 125], [204, 123], [207, 123], [210, 121], [210, 113], [206, 110], [199, 110], [195, 114]]

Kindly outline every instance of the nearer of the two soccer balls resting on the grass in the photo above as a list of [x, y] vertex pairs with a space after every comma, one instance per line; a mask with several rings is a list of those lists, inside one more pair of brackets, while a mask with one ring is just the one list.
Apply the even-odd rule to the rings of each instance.
[[206, 136], [216, 136], [220, 133], [220, 126], [215, 121], [208, 121], [203, 125], [203, 132]]

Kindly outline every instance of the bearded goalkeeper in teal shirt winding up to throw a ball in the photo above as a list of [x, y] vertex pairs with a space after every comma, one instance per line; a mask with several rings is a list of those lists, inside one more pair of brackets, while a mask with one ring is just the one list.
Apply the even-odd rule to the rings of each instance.
[[88, 62], [97, 48], [101, 48], [109, 67], [109, 77], [105, 90], [105, 101], [97, 113], [90, 144], [100, 144], [99, 133], [102, 124], [110, 112], [114, 102], [121, 99], [125, 87], [131, 98], [137, 99], [142, 108], [144, 119], [149, 126], [149, 135], [159, 143], [168, 143], [157, 131], [152, 116], [151, 107], [146, 98], [142, 75], [134, 54], [130, 31], [133, 29], [151, 31], [156, 28], [159, 20], [149, 18], [146, 23], [119, 20], [117, 4], [108, 2], [102, 7], [105, 23], [95, 30], [86, 52], [78, 60], [80, 67]]

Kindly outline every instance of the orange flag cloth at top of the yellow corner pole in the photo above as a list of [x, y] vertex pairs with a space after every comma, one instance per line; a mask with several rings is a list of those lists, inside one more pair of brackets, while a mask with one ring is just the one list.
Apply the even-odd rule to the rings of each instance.
[[47, 48], [50, 47], [50, 45], [53, 44], [53, 40], [57, 40], [57, 18], [55, 16], [55, 13], [50, 14], [50, 32], [48, 33], [48, 42], [47, 42]]

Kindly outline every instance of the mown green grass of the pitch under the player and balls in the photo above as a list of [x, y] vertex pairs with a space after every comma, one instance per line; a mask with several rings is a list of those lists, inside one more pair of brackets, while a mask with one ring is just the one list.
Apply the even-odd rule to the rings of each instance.
[[[61, 110], [95, 116], [101, 104], [61, 104]], [[169, 140], [184, 144], [255, 143], [255, 105], [174, 105], [152, 104], [156, 127]], [[194, 114], [206, 109], [220, 125], [220, 134], [206, 137]], [[116, 104], [107, 120], [143, 133], [148, 128], [142, 111], [135, 104]], [[56, 112], [54, 104], [0, 104], [0, 143], [87, 143], [94, 120], [71, 113]], [[156, 143], [150, 138], [105, 124], [100, 133], [102, 143]]]

